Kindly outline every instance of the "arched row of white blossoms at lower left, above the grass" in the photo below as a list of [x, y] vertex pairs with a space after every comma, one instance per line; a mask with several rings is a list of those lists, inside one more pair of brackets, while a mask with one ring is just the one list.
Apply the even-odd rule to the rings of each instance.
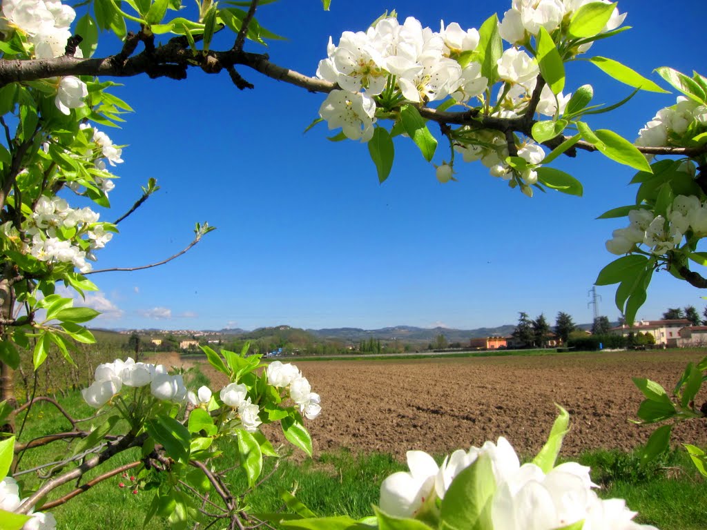
[[156, 399], [173, 403], [182, 403], [187, 397], [182, 375], [169, 375], [164, 365], [136, 363], [130, 357], [98, 365], [94, 377], [93, 384], [81, 391], [86, 403], [94, 408], [105, 405], [123, 386], [139, 388], [150, 385], [151, 394]]

